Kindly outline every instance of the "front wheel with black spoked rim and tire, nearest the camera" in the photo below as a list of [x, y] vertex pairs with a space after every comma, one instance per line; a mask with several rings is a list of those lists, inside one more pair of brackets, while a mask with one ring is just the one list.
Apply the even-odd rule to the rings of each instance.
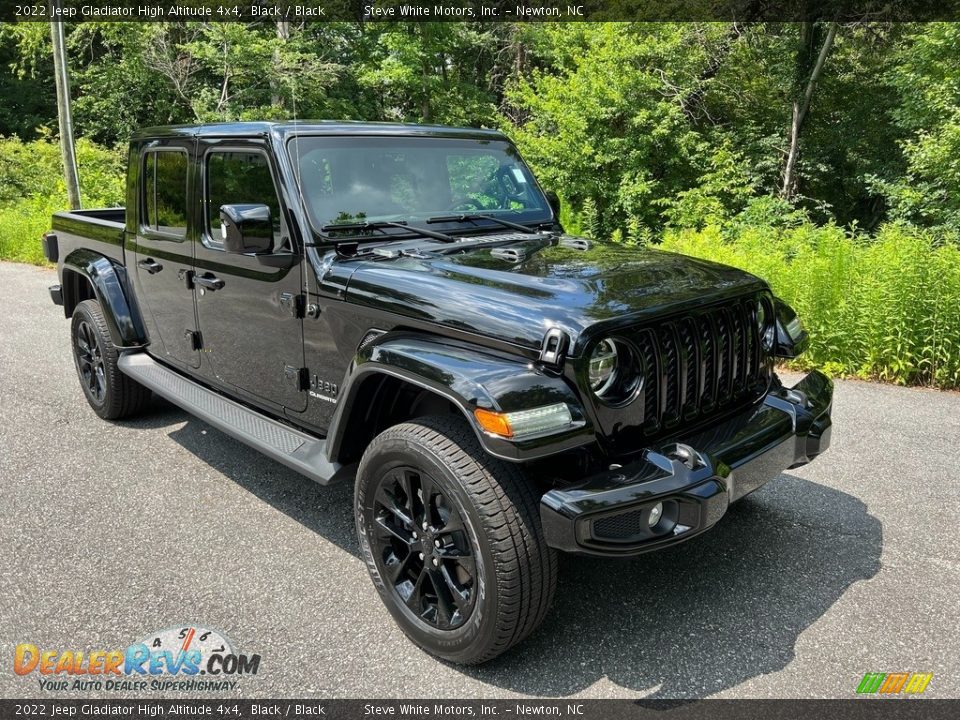
[[418, 418], [378, 435], [360, 461], [354, 507], [373, 584], [427, 652], [482, 663], [543, 621], [557, 554], [543, 538], [539, 497], [463, 419]]

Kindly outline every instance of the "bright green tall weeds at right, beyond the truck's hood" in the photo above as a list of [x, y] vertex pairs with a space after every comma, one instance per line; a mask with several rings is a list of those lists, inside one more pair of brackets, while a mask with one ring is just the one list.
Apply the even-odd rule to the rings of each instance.
[[960, 387], [960, 248], [910, 226], [873, 237], [810, 223], [667, 233], [663, 249], [767, 280], [811, 335], [797, 363], [900, 384]]

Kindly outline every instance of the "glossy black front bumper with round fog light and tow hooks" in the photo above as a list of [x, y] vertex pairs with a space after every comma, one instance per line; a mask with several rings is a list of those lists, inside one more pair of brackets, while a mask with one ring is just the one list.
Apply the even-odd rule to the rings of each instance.
[[[832, 404], [832, 381], [813, 371], [707, 431], [550, 490], [540, 501], [547, 544], [573, 553], [633, 555], [687, 540], [714, 525], [730, 503], [826, 450]], [[656, 519], [651, 511], [658, 505]]]

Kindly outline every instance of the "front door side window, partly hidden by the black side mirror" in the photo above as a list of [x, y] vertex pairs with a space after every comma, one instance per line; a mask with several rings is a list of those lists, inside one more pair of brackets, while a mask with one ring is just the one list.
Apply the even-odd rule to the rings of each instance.
[[274, 247], [280, 246], [280, 201], [270, 165], [260, 152], [217, 150], [207, 155], [207, 234], [219, 244], [221, 205], [267, 205], [273, 220]]

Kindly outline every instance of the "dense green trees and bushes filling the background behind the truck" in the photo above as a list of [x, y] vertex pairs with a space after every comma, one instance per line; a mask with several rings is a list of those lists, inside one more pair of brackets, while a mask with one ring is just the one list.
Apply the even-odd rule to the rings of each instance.
[[[956, 24], [86, 22], [67, 45], [87, 205], [122, 200], [142, 126], [501, 127], [568, 226], [754, 270], [811, 362], [960, 385]], [[52, 88], [47, 26], [0, 28], [0, 257], [39, 261], [65, 204]]]

